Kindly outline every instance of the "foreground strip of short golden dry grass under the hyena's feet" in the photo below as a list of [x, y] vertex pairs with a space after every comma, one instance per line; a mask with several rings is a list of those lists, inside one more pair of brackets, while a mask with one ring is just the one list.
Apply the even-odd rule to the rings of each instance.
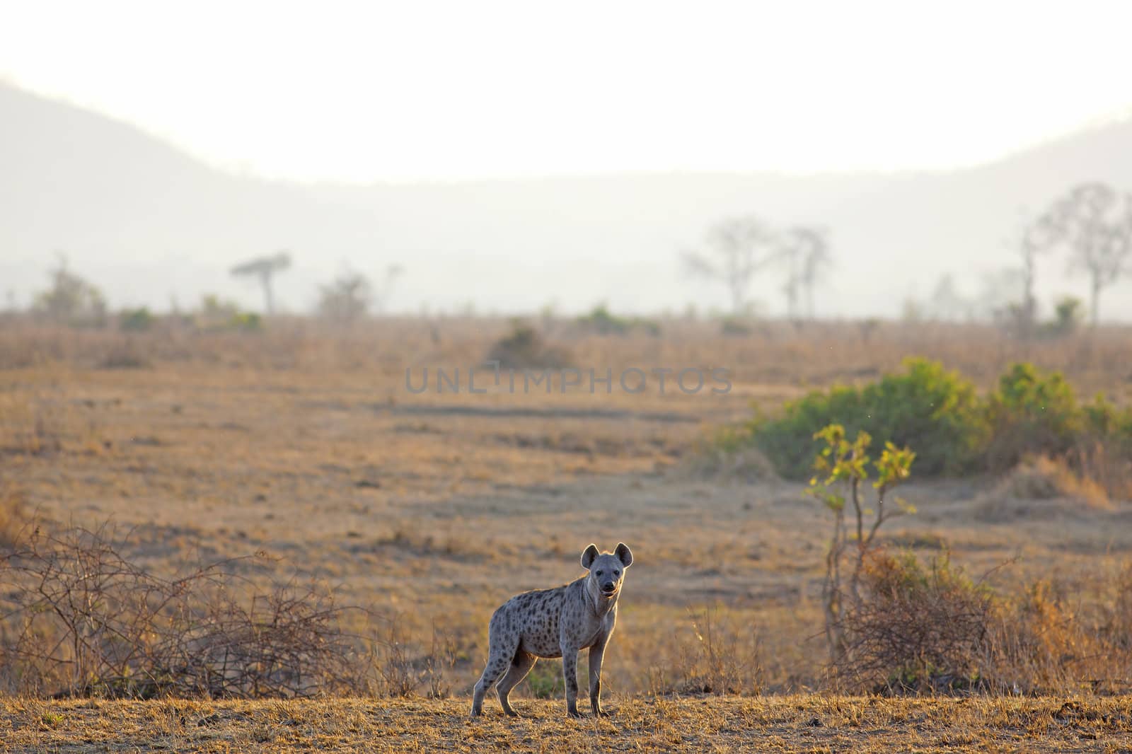
[[0, 700], [10, 752], [1126, 752], [1123, 699], [883, 700], [844, 696], [615, 700], [572, 720], [560, 702], [529, 717], [446, 701], [40, 702]]

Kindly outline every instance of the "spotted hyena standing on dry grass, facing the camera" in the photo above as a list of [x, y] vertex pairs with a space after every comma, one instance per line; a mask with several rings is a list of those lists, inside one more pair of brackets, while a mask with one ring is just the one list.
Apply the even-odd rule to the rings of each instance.
[[[517, 714], [507, 702], [535, 659], [560, 657], [566, 683], [566, 711], [577, 711], [577, 653], [590, 650], [590, 706], [601, 711], [601, 657], [617, 622], [617, 598], [621, 593], [625, 569], [633, 565], [633, 552], [624, 543], [612, 552], [599, 552], [590, 545], [582, 552], [582, 567], [589, 573], [577, 581], [533, 592], [516, 594], [503, 603], [488, 625], [488, 665], [475, 684], [472, 716], [483, 709], [483, 693], [497, 680], [499, 704], [507, 714]], [[501, 679], [500, 679], [501, 677]]]

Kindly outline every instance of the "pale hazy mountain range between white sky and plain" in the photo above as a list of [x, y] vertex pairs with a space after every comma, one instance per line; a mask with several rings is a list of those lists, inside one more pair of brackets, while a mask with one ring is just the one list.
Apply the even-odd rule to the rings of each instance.
[[[577, 311], [598, 301], [624, 311], [723, 309], [723, 286], [688, 280], [678, 252], [713, 221], [754, 213], [830, 229], [835, 267], [820, 315], [895, 316], [943, 273], [974, 294], [1014, 265], [1007, 241], [1020, 212], [1081, 180], [1132, 190], [1132, 122], [951, 172], [361, 187], [230, 174], [134, 126], [0, 85], [0, 295], [15, 291], [26, 303], [61, 250], [114, 306], [163, 309], [175, 297], [186, 307], [216, 292], [258, 308], [258, 290], [228, 269], [286, 248], [295, 266], [280, 277], [277, 299], [291, 310], [309, 309], [318, 283], [348, 265], [380, 277], [391, 264], [406, 271], [388, 302], [394, 311]], [[1047, 299], [1084, 294], [1062, 257], [1043, 265]], [[784, 308], [781, 277], [767, 269], [753, 289], [767, 312]], [[1132, 318], [1129, 291], [1129, 282], [1107, 291], [1103, 316]]]

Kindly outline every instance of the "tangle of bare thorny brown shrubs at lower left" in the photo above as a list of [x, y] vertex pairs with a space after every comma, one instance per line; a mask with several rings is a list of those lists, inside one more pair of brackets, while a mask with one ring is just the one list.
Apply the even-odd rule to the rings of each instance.
[[[161, 579], [108, 525], [36, 525], [0, 558], [0, 684], [52, 696], [310, 696], [357, 689], [349, 607], [295, 577], [256, 588], [207, 564]], [[241, 593], [246, 597], [241, 598]]]

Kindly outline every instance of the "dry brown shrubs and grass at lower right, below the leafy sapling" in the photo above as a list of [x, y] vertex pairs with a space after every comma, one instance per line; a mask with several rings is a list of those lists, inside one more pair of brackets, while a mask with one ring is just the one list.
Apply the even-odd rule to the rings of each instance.
[[1132, 688], [1132, 564], [1002, 597], [944, 558], [877, 552], [844, 619], [841, 683], [886, 693]]

